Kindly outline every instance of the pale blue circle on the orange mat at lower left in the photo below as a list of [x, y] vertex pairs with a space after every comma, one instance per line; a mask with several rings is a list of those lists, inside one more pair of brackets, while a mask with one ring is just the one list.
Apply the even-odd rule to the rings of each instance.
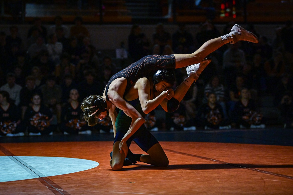
[[47, 156], [0, 156], [0, 182], [64, 175], [92, 169], [93, 160]]

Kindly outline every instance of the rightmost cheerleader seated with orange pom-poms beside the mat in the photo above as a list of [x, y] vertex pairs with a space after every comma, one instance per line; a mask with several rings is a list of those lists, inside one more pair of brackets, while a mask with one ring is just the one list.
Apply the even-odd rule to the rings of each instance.
[[237, 128], [265, 128], [263, 116], [256, 111], [255, 102], [250, 98], [248, 88], [240, 90], [240, 101], [236, 102], [231, 119]]

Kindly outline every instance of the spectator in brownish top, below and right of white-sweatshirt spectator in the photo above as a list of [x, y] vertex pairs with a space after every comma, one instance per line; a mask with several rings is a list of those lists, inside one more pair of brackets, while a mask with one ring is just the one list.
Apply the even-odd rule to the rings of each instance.
[[55, 67], [55, 76], [57, 83], [64, 81], [64, 76], [70, 73], [73, 78], [75, 76], [75, 65], [70, 62], [70, 55], [68, 53], [62, 53], [60, 56], [60, 64]]

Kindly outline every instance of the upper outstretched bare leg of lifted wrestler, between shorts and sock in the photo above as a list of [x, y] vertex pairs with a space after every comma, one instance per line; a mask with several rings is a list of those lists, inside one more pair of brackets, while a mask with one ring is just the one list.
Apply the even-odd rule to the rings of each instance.
[[225, 45], [224, 41], [221, 37], [218, 37], [215, 39], [208, 40], [192, 54], [174, 54], [174, 57], [176, 59], [175, 68], [178, 69], [185, 66], [189, 66], [191, 64], [200, 63], [210, 53], [216, 51], [223, 45]]

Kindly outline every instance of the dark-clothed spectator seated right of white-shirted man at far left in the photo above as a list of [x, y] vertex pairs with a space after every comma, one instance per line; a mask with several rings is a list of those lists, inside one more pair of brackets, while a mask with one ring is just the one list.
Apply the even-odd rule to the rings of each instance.
[[25, 87], [23, 87], [20, 91], [20, 106], [21, 106], [21, 111], [22, 111], [22, 118], [24, 117], [24, 113], [25, 110], [32, 106], [32, 101], [31, 98], [33, 96], [33, 94], [38, 93], [41, 94], [42, 91], [40, 90], [40, 88], [38, 88], [35, 84], [35, 77], [34, 76], [27, 76], [25, 78]]

